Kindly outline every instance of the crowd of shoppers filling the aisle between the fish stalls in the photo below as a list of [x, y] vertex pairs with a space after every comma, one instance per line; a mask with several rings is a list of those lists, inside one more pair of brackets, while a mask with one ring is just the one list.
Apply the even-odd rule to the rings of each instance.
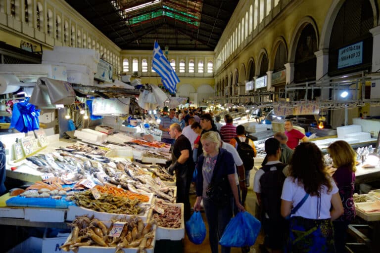
[[[199, 109], [185, 109], [177, 115], [178, 119], [175, 110], [170, 110], [160, 124], [163, 141], [174, 144], [168, 170], [176, 171], [177, 201], [185, 204], [187, 220], [195, 168], [193, 210], [199, 211], [203, 205], [211, 252], [217, 253], [218, 241], [231, 217], [245, 211], [250, 164], [257, 153], [255, 145], [246, 137], [243, 126], [234, 126], [230, 115], [225, 115], [225, 125], [220, 123], [220, 116], [214, 122], [212, 114]], [[248, 163], [242, 150], [249, 154]], [[286, 120], [285, 132], [277, 132], [265, 141], [265, 152], [262, 168], [253, 179], [261, 207], [256, 216], [265, 234], [262, 252], [345, 252], [348, 224], [355, 218], [352, 196], [356, 153], [351, 146], [341, 140], [328, 147], [336, 168], [330, 175], [321, 150]], [[223, 205], [208, 196], [215, 181], [226, 184]], [[221, 251], [229, 253], [230, 248], [221, 247]], [[242, 252], [247, 251], [242, 248]]]

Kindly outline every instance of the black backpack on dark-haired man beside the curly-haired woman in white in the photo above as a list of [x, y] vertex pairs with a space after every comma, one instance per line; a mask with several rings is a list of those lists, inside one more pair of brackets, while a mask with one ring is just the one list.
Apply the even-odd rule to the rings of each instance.
[[[268, 214], [271, 219], [281, 218], [281, 193], [285, 181], [283, 169], [285, 164], [278, 163], [273, 165], [265, 165], [264, 174], [260, 177], [261, 185], [261, 205], [263, 211]], [[276, 170], [271, 168], [276, 167]]]

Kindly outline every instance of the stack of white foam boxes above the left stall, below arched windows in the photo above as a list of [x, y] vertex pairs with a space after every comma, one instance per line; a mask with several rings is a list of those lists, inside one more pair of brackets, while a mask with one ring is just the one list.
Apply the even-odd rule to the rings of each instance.
[[99, 58], [93, 49], [54, 46], [53, 51], [44, 51], [42, 63], [66, 67], [69, 83], [93, 85]]

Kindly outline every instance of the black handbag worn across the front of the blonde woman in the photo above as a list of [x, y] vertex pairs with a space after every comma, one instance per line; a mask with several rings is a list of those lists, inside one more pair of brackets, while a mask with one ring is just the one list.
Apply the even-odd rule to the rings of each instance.
[[[215, 165], [216, 166], [216, 165]], [[206, 189], [206, 196], [218, 207], [224, 207], [230, 201], [230, 181], [227, 176], [215, 178], [216, 169], [214, 168], [211, 182]]]

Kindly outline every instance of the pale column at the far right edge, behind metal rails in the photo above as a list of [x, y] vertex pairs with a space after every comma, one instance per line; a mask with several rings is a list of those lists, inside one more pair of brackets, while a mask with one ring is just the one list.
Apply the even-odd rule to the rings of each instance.
[[[380, 71], [380, 26], [370, 29], [374, 37], [372, 48], [372, 72]], [[375, 80], [371, 84], [371, 98], [380, 98], [380, 80]], [[370, 107], [370, 116], [380, 114], [379, 106]]]

